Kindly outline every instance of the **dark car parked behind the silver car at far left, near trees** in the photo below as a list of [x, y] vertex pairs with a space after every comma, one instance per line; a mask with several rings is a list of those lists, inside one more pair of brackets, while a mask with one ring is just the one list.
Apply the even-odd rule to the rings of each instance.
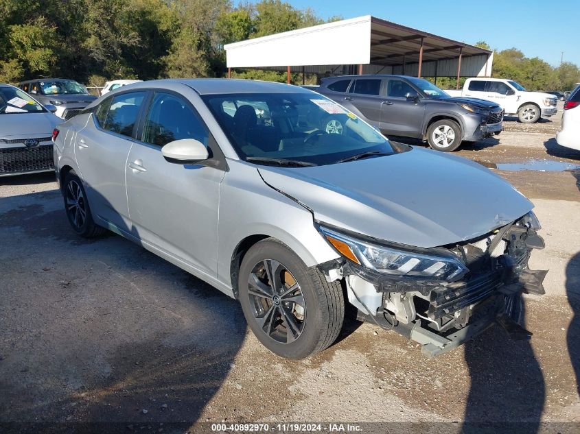
[[71, 119], [97, 98], [82, 84], [65, 78], [39, 78], [18, 86], [40, 104], [56, 106], [55, 114], [62, 119]]

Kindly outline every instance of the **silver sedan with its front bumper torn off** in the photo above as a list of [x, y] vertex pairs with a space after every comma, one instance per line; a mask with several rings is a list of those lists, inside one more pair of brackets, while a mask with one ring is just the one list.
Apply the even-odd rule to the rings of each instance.
[[[328, 116], [340, 130], [321, 128]], [[529, 336], [521, 294], [543, 293], [545, 274], [527, 265], [543, 246], [533, 204], [485, 167], [390, 142], [322, 95], [143, 82], [54, 136], [77, 234], [113, 230], [237, 298], [283, 357], [330, 346], [346, 301], [430, 356], [496, 320]]]

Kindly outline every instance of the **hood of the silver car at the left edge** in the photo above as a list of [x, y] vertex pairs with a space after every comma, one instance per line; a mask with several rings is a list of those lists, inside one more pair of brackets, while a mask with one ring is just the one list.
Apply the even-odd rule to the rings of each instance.
[[62, 122], [64, 119], [51, 112], [0, 114], [0, 137], [50, 137]]

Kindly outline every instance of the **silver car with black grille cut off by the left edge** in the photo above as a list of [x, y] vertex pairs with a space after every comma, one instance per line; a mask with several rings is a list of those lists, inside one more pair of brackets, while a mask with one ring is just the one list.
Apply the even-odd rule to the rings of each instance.
[[0, 176], [54, 170], [52, 132], [62, 122], [54, 110], [0, 83]]

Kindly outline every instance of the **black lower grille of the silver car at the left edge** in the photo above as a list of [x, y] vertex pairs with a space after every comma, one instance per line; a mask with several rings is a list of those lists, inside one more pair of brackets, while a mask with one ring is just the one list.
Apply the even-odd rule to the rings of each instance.
[[24, 173], [54, 169], [52, 145], [0, 149], [0, 173]]

